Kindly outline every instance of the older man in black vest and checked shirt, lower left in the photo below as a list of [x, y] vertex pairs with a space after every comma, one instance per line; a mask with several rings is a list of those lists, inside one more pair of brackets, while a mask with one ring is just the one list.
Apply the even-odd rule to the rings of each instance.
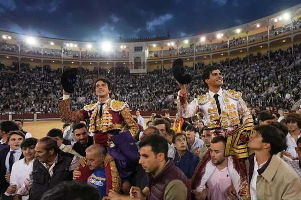
[[40, 200], [43, 194], [64, 180], [72, 180], [72, 171], [77, 167], [79, 158], [71, 153], [62, 152], [52, 137], [43, 137], [36, 147], [36, 159], [26, 180], [18, 190], [15, 200], [29, 194], [29, 199]]

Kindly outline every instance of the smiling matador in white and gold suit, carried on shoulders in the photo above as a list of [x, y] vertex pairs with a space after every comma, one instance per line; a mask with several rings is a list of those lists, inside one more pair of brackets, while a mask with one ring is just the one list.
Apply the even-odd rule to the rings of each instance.
[[[248, 156], [246, 138], [253, 129], [253, 117], [243, 101], [240, 92], [228, 89], [223, 90], [223, 76], [217, 66], [208, 66], [204, 69], [202, 79], [209, 89], [206, 94], [198, 96], [188, 104], [187, 85], [177, 81], [181, 90], [178, 92], [178, 112], [181, 117], [192, 117], [198, 111], [204, 114], [208, 128], [215, 130], [215, 136], [226, 136], [225, 156], [233, 156], [236, 164], [230, 165], [229, 171], [238, 179], [241, 184], [234, 184], [242, 199], [249, 199], [250, 192], [247, 181], [246, 167], [243, 160]], [[239, 116], [242, 117], [242, 124]], [[195, 194], [204, 192], [204, 186], [208, 180], [205, 171], [212, 168], [210, 154], [207, 152], [196, 167], [192, 180], [192, 191]], [[213, 173], [214, 171], [211, 171]], [[234, 177], [231, 175], [231, 177]]]

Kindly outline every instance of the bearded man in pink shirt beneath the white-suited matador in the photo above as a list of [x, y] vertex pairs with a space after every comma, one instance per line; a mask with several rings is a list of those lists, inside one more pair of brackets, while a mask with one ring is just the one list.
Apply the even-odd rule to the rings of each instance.
[[206, 197], [208, 200], [227, 199], [227, 188], [233, 184], [232, 178], [237, 179], [238, 174], [235, 170], [229, 171], [228, 164], [233, 164], [233, 160], [232, 156], [224, 156], [226, 142], [224, 136], [216, 136], [212, 139], [209, 149], [211, 160], [209, 165], [206, 165], [201, 185], [193, 191], [198, 193], [196, 199], [205, 200]]

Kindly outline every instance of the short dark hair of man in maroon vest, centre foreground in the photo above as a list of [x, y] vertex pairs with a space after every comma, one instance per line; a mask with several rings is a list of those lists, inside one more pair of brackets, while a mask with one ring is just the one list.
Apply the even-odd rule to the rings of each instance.
[[139, 148], [143, 146], [151, 146], [155, 155], [164, 153], [165, 160], [168, 160], [168, 143], [165, 137], [159, 134], [149, 134], [139, 142]]

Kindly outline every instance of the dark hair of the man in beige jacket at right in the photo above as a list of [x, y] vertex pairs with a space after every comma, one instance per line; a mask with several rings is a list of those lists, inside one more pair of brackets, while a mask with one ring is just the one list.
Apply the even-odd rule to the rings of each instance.
[[259, 125], [255, 126], [254, 130], [261, 134], [262, 142], [270, 143], [271, 154], [277, 154], [285, 149], [286, 138], [285, 134], [280, 129], [272, 125]]

